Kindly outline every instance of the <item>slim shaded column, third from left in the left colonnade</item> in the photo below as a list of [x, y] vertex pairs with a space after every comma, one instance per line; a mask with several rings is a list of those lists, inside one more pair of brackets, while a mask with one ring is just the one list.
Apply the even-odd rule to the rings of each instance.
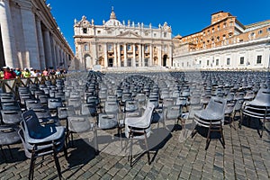
[[45, 62], [44, 45], [43, 45], [43, 39], [42, 39], [40, 18], [38, 17], [36, 17], [36, 28], [37, 28], [37, 33], [38, 33], [38, 44], [39, 44], [39, 51], [40, 51], [40, 69], [44, 69], [44, 67], [46, 67], [46, 62]]

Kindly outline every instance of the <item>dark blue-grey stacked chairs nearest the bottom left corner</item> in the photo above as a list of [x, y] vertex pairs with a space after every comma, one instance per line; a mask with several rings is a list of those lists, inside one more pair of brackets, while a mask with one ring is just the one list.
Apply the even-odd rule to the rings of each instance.
[[25, 156], [31, 158], [29, 179], [33, 179], [35, 159], [53, 154], [55, 164], [58, 170], [58, 176], [61, 178], [61, 170], [57, 154], [64, 149], [67, 158], [67, 149], [65, 147], [65, 128], [53, 124], [40, 124], [38, 117], [32, 110], [23, 112], [22, 129], [19, 135], [23, 141]]

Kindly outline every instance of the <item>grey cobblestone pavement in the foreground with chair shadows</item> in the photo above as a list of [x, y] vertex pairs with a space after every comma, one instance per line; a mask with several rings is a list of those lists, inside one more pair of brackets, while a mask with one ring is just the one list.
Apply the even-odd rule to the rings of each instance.
[[[269, 123], [269, 122], [268, 122]], [[163, 128], [158, 133], [161, 133]], [[269, 129], [268, 129], [269, 130]], [[59, 162], [65, 179], [269, 179], [270, 139], [269, 131], [259, 138], [257, 130], [247, 126], [234, 130], [224, 127], [226, 148], [218, 139], [211, 139], [205, 150], [206, 139], [197, 133], [193, 138], [179, 140], [180, 128], [168, 133], [166, 139], [151, 150], [151, 164], [146, 155], [130, 167], [128, 157], [112, 155], [103, 150], [94, 156], [94, 149], [76, 136], [74, 146], [68, 148], [67, 160], [59, 154]], [[98, 133], [100, 133], [98, 131]], [[150, 138], [155, 138], [155, 133]], [[98, 138], [100, 147], [103, 140]], [[1, 179], [27, 179], [30, 159], [24, 156], [22, 144], [11, 146], [14, 158], [4, 160], [0, 153]], [[156, 153], [155, 151], [156, 150]], [[113, 148], [112, 148], [113, 151]], [[152, 152], [153, 151], [153, 152]], [[40, 162], [40, 159], [37, 160]], [[36, 166], [35, 179], [58, 179], [52, 157], [42, 166]]]

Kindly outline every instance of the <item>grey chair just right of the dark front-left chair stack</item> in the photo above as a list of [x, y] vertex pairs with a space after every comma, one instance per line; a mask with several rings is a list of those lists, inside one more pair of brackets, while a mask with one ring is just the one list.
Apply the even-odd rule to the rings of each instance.
[[[94, 132], [94, 150], [95, 153], [98, 152], [97, 144], [97, 128], [96, 122], [91, 116], [87, 115], [70, 115], [67, 117], [68, 129], [67, 138], [71, 136], [71, 141], [73, 143], [73, 133], [85, 133], [88, 131]], [[73, 144], [72, 144], [73, 145]]]

